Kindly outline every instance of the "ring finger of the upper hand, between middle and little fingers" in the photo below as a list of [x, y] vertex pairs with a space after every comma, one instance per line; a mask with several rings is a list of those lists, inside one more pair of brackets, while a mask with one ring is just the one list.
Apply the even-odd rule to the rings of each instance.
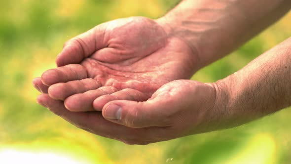
[[118, 91], [113, 86], [102, 86], [96, 90], [89, 90], [84, 93], [74, 94], [65, 100], [65, 106], [73, 112], [95, 111], [93, 101], [102, 95]]

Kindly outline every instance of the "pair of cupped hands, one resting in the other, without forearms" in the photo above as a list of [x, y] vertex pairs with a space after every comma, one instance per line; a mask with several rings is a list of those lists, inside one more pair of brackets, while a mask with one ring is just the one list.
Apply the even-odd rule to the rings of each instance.
[[[33, 81], [37, 102], [75, 126], [127, 144], [213, 128], [216, 86], [189, 79], [197, 54], [162, 21], [117, 19], [64, 45]], [[102, 111], [102, 112], [99, 112]]]

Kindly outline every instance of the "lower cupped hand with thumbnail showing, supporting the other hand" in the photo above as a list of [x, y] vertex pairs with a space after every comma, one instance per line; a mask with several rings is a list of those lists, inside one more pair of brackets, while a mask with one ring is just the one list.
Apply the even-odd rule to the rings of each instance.
[[79, 128], [127, 144], [148, 144], [217, 129], [214, 84], [178, 80], [164, 84], [144, 102], [114, 100], [99, 112], [71, 112], [63, 102], [42, 94], [38, 101]]

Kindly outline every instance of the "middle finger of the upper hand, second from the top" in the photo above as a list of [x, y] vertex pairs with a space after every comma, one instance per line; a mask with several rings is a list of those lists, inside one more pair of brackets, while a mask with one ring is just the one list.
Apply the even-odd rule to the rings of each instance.
[[67, 97], [84, 93], [88, 90], [94, 90], [101, 87], [101, 83], [94, 79], [82, 79], [79, 81], [60, 82], [51, 85], [48, 88], [48, 94], [51, 98], [56, 100], [65, 100]]

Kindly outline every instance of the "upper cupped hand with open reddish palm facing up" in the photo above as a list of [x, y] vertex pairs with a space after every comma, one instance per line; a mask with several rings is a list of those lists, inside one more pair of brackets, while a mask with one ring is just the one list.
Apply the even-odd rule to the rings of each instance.
[[164, 83], [189, 79], [195, 71], [193, 48], [165, 29], [145, 17], [98, 25], [67, 41], [59, 67], [33, 84], [70, 111], [101, 111], [112, 100], [146, 101]]

